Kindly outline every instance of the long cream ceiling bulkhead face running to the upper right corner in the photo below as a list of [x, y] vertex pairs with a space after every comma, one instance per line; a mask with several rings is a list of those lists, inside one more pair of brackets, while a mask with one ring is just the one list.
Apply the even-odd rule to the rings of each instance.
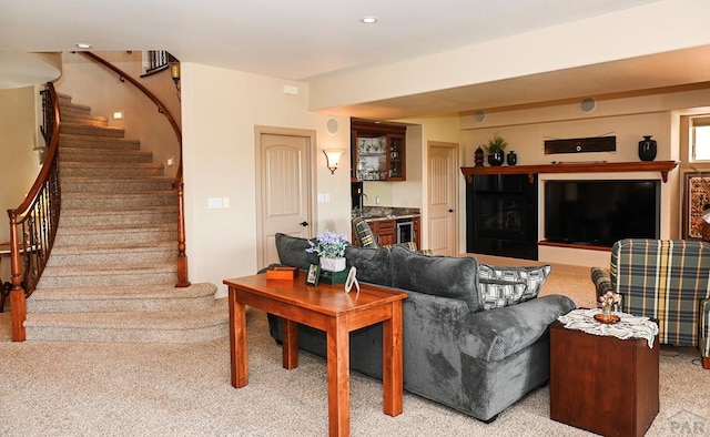
[[661, 0], [417, 59], [324, 75], [311, 82], [311, 108], [337, 108], [701, 47], [710, 43], [709, 16], [706, 0]]

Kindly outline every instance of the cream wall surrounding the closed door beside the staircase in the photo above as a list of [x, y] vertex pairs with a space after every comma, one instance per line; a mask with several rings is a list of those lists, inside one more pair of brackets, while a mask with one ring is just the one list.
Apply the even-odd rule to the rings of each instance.
[[[316, 131], [317, 204], [312, 232], [349, 235], [349, 154], [331, 174], [322, 149], [349, 148], [349, 119], [334, 116], [339, 129], [326, 130], [329, 114], [313, 113], [307, 85], [213, 67], [183, 63], [183, 155], [190, 281], [222, 281], [256, 273], [254, 126]], [[284, 85], [298, 95], [284, 94]], [[207, 197], [230, 197], [231, 207], [207, 210]], [[316, 200], [314, 200], [315, 202]]]

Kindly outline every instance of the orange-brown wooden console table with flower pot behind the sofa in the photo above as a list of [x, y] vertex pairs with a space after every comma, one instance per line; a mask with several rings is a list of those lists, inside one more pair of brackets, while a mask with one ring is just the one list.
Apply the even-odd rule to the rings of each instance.
[[343, 284], [310, 286], [303, 276], [293, 281], [266, 275], [225, 280], [230, 288], [230, 346], [232, 386], [248, 383], [245, 305], [283, 318], [283, 367], [298, 366], [298, 324], [326, 332], [328, 429], [331, 436], [349, 435], [349, 333], [383, 323], [383, 411], [402, 414], [402, 301], [406, 293], [361, 284], [346, 294]]

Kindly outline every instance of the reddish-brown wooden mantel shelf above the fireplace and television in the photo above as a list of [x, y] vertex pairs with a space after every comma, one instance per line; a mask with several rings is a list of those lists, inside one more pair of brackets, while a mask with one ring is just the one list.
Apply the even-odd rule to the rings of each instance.
[[540, 173], [612, 173], [612, 172], [660, 172], [663, 182], [668, 182], [668, 172], [673, 170], [676, 161], [637, 161], [637, 162], [570, 162], [540, 165], [500, 165], [500, 166], [463, 166], [462, 173], [470, 184], [474, 174], [527, 174], [530, 183]]

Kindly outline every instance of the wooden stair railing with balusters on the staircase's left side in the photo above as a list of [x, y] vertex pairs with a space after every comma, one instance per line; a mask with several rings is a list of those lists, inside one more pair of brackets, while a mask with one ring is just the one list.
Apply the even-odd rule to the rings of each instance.
[[59, 184], [59, 101], [52, 83], [42, 92], [44, 121], [42, 134], [49, 144], [42, 170], [20, 206], [10, 216], [10, 323], [13, 342], [24, 342], [27, 297], [44, 271], [54, 244], [61, 190]]

